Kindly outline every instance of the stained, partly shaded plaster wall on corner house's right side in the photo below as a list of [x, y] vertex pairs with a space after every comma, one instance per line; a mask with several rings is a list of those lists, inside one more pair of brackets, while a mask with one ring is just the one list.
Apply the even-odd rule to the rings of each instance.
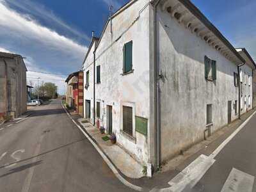
[[[238, 117], [233, 108], [235, 100], [238, 108], [237, 65], [161, 10], [157, 10], [157, 42], [157, 60], [165, 76], [160, 81], [164, 161], [204, 139], [207, 104], [212, 104], [211, 132], [228, 123], [228, 100], [232, 120]], [[217, 61], [216, 82], [205, 80], [205, 55]]]

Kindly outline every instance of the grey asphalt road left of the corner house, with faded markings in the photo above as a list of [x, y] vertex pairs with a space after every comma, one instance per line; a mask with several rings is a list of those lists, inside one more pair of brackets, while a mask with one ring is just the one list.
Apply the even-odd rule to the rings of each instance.
[[38, 106], [0, 130], [0, 191], [132, 191], [61, 107]]

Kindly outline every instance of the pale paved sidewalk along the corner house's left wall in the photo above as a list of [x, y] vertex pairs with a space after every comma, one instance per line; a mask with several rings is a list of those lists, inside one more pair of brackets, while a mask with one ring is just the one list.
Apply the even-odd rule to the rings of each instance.
[[90, 123], [84, 123], [86, 120], [84, 118], [77, 118], [77, 121], [83, 125], [83, 128], [92, 136], [92, 138], [97, 142], [104, 153], [109, 157], [109, 159], [115, 164], [116, 168], [120, 170], [126, 177], [132, 179], [139, 179], [143, 175], [143, 166], [133, 159], [124, 149], [119, 147], [117, 144], [112, 144], [110, 140], [104, 141], [102, 138], [108, 136], [107, 134], [101, 134], [99, 129], [93, 127]]

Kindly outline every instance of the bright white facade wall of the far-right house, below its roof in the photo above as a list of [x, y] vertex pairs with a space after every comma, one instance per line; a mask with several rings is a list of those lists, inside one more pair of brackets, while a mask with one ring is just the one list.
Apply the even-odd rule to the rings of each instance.
[[[252, 68], [249, 67], [248, 65], [243, 65], [240, 70], [243, 73], [243, 75], [240, 74], [241, 89], [243, 89], [243, 94], [241, 94], [241, 114], [243, 114], [243, 113], [246, 113], [246, 111], [249, 111], [250, 109], [252, 109], [252, 99], [253, 99]], [[250, 78], [248, 78], [249, 76]], [[250, 99], [250, 106], [249, 106], [249, 99]], [[246, 100], [246, 104], [244, 103], [245, 100]]]

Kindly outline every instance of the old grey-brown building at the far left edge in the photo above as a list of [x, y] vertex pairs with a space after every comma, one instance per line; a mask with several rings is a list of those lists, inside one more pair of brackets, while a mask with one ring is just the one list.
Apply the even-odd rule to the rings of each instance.
[[27, 111], [27, 68], [19, 54], [0, 52], [0, 116]]

